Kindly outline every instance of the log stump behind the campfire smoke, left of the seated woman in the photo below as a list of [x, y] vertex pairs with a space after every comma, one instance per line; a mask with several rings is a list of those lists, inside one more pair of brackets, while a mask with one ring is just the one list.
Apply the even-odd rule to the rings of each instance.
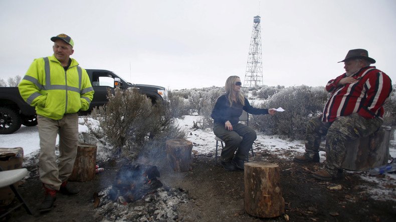
[[192, 142], [185, 139], [168, 139], [165, 142], [166, 156], [174, 171], [192, 169]]

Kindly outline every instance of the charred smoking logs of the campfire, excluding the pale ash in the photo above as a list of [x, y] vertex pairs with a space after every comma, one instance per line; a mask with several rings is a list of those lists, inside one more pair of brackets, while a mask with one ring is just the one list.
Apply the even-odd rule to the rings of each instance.
[[123, 204], [141, 199], [162, 186], [157, 177], [159, 171], [154, 165], [123, 165], [109, 190], [109, 198]]

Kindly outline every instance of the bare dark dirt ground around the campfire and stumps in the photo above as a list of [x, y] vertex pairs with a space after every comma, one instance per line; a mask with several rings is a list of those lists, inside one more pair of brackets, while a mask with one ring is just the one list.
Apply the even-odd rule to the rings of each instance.
[[[321, 163], [298, 164], [277, 155], [257, 152], [251, 161], [269, 161], [279, 164], [281, 192], [285, 199], [285, 214], [274, 218], [258, 218], [244, 210], [244, 172], [226, 171], [214, 156], [194, 155], [193, 169], [173, 172], [166, 161], [157, 161], [163, 184], [188, 193], [189, 201], [177, 207], [178, 221], [395, 221], [395, 200], [378, 201], [359, 187], [363, 181], [358, 173], [344, 173], [342, 179], [323, 182], [311, 177]], [[71, 182], [81, 192], [77, 196], [58, 194], [55, 207], [39, 213], [44, 189], [39, 182], [37, 166], [28, 167], [32, 176], [19, 186], [25, 200], [34, 211], [14, 210], [0, 221], [97, 221], [93, 194], [112, 184], [115, 174], [125, 159], [98, 163], [105, 170], [88, 182]], [[381, 176], [381, 175], [379, 175]], [[340, 184], [339, 190], [328, 186]], [[395, 189], [396, 187], [389, 187]], [[16, 201], [15, 201], [16, 202]], [[13, 204], [15, 204], [15, 202]], [[133, 204], [133, 203], [129, 203]]]

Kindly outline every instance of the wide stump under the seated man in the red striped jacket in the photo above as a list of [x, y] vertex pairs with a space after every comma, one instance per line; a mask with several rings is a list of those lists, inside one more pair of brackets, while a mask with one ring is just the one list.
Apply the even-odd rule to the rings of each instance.
[[390, 131], [391, 127], [381, 126], [369, 136], [348, 141], [342, 168], [365, 171], [385, 165], [389, 157]]

